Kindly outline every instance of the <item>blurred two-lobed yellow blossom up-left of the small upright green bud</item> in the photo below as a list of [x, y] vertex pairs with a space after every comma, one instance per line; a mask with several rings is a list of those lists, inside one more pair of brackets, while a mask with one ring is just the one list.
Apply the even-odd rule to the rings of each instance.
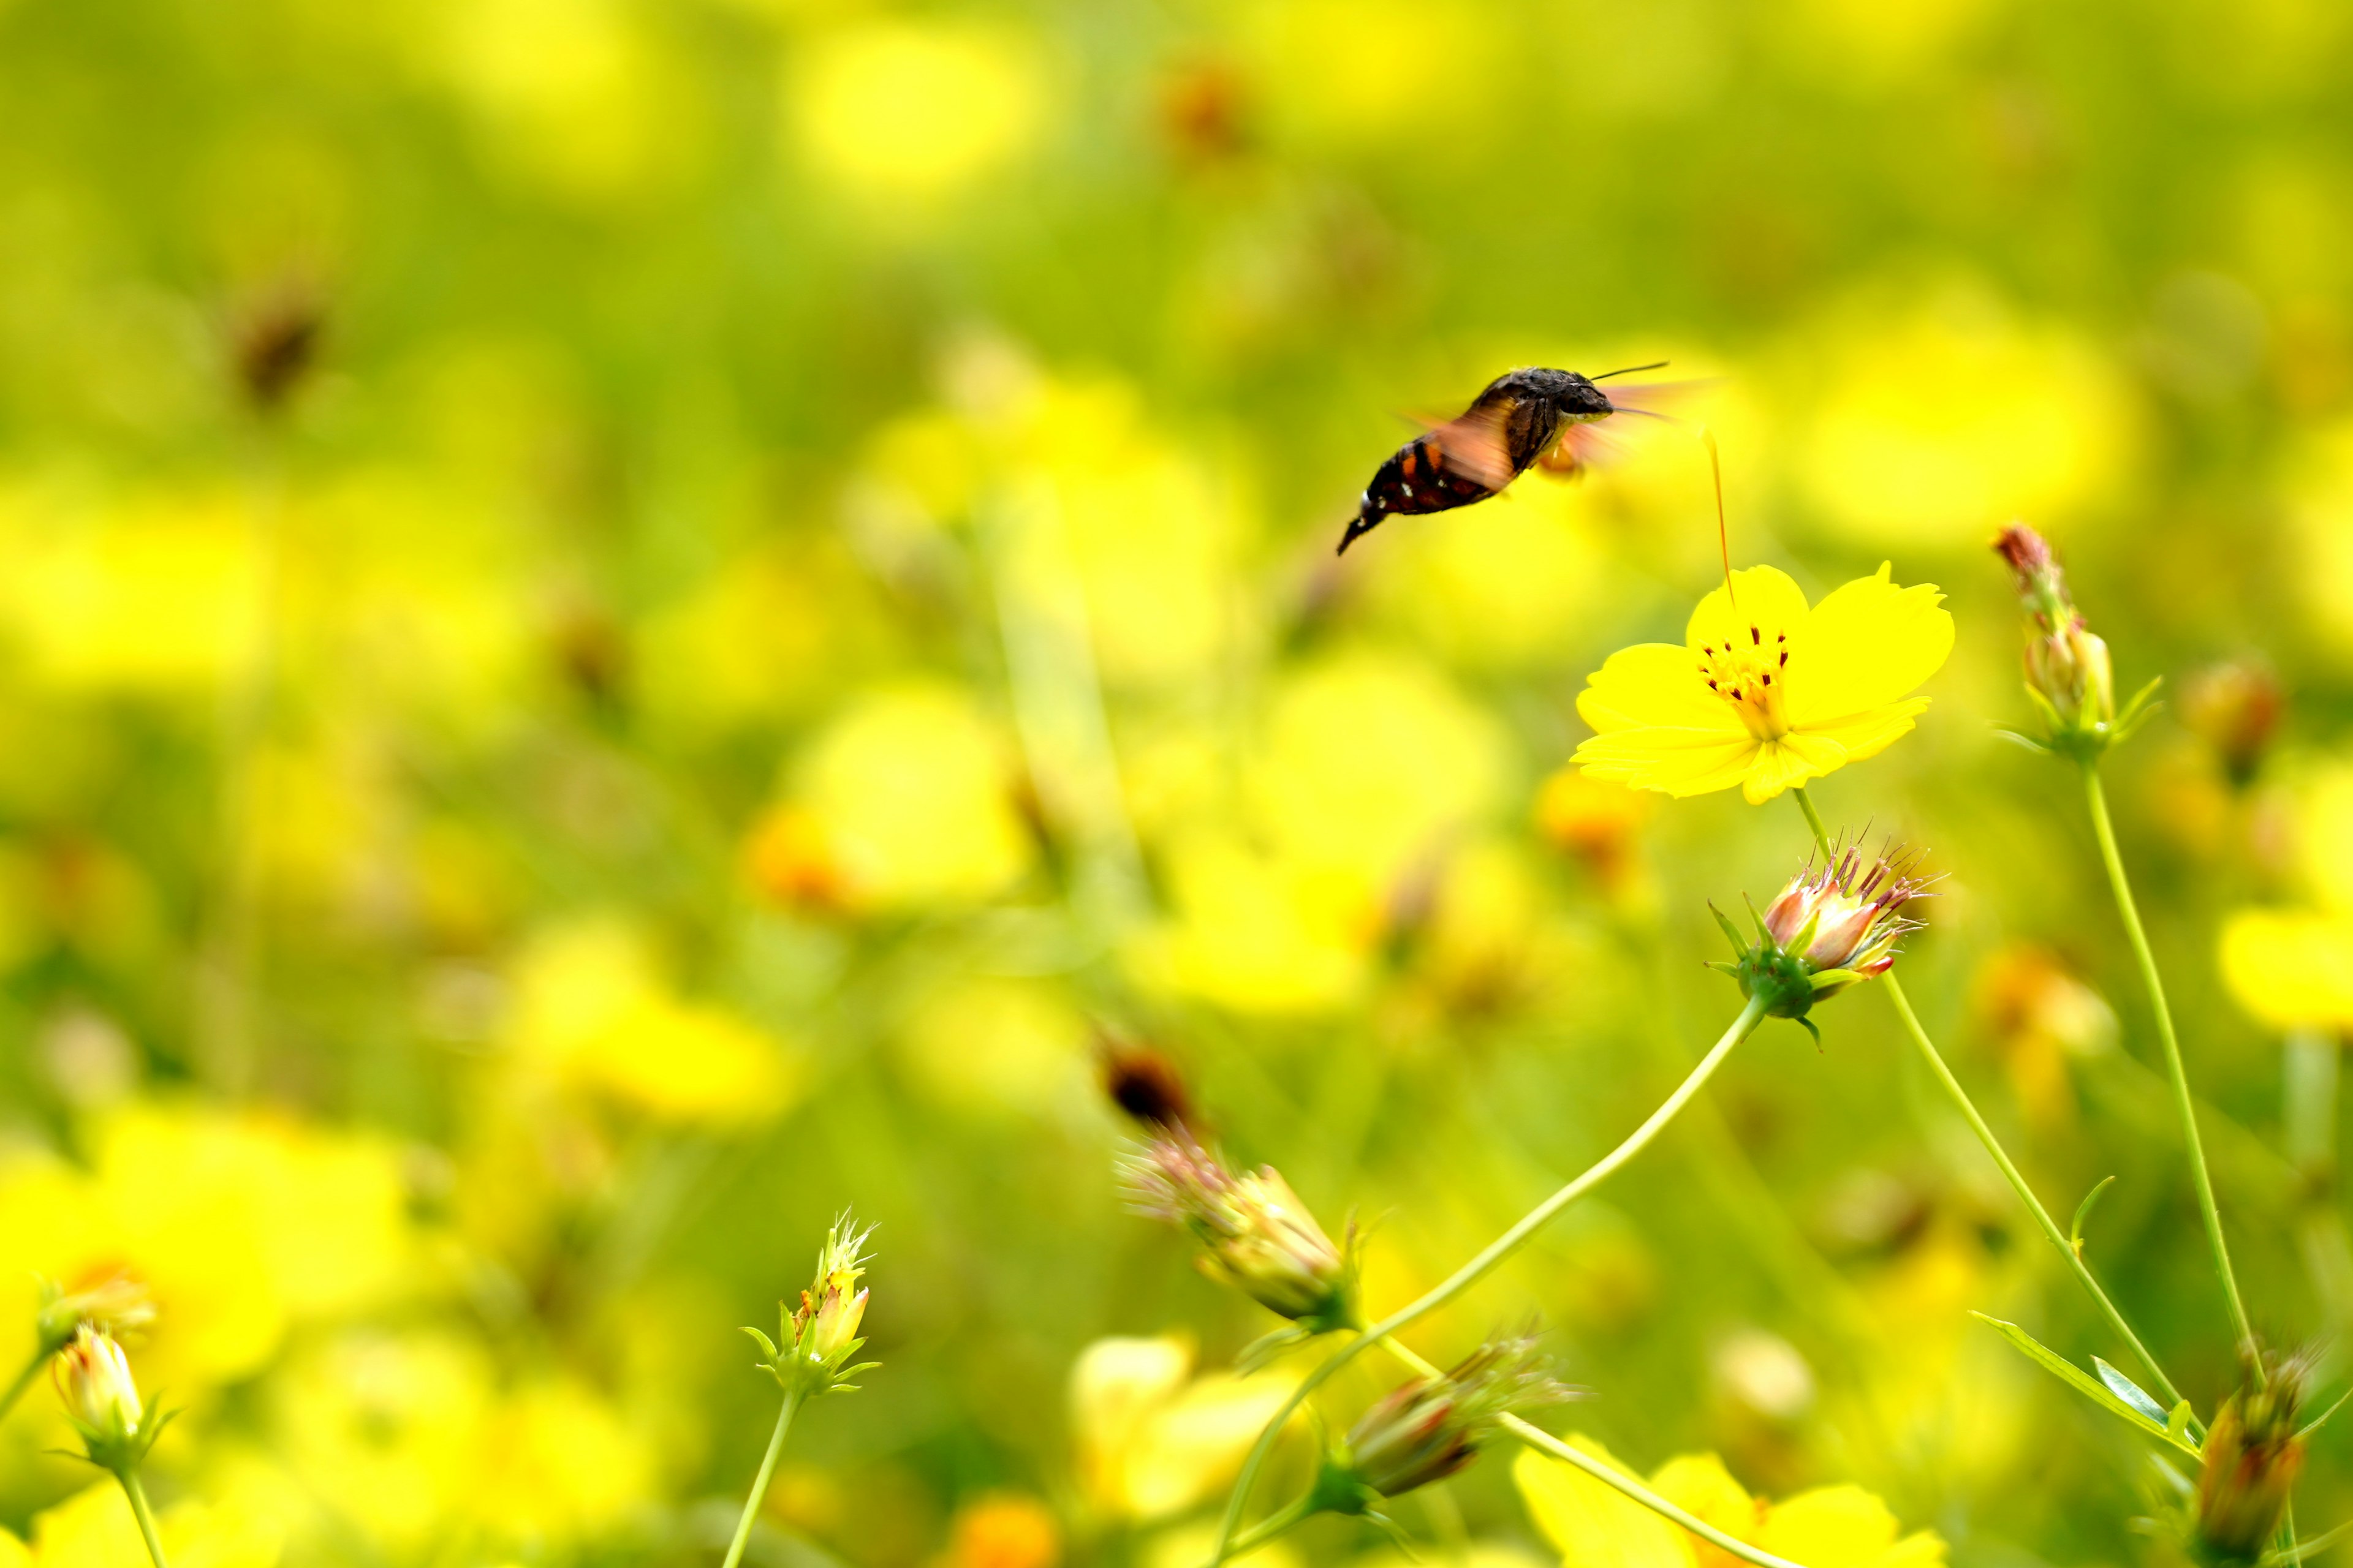
[[800, 1081], [781, 1041], [680, 999], [645, 933], [616, 917], [560, 926], [522, 954], [508, 1039], [555, 1081], [671, 1121], [762, 1121]]

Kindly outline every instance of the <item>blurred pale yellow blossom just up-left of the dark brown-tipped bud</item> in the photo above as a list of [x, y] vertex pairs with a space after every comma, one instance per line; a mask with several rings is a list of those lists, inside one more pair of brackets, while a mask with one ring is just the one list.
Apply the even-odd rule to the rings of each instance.
[[899, 1032], [899, 1065], [958, 1114], [1040, 1114], [1087, 1084], [1087, 1020], [1033, 980], [969, 978], [925, 997]]

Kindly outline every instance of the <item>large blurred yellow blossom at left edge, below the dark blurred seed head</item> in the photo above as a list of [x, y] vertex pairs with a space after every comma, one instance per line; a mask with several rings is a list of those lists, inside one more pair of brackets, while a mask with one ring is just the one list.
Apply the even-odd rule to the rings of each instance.
[[66, 691], [188, 696], [245, 670], [261, 571], [233, 494], [94, 503], [61, 487], [0, 494], [14, 567], [0, 623]]

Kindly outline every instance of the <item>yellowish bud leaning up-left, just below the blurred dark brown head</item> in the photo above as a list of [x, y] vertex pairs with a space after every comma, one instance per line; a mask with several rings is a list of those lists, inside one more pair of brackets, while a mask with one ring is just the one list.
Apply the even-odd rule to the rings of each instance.
[[[1191, 1229], [1200, 1265], [1254, 1302], [1315, 1333], [1355, 1326], [1355, 1265], [1273, 1166], [1235, 1175], [1184, 1128], [1127, 1166], [1136, 1208]], [[1353, 1232], [1351, 1232], [1353, 1237]]]

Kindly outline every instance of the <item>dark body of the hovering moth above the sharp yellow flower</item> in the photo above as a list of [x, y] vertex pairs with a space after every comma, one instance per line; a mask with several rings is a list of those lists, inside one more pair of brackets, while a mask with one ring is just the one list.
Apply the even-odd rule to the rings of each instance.
[[[1638, 364], [1633, 369], [1659, 369]], [[1591, 458], [1586, 428], [1612, 414], [1649, 414], [1621, 393], [1612, 402], [1598, 381], [1567, 369], [1515, 369], [1487, 383], [1461, 418], [1417, 435], [1381, 463], [1358, 501], [1339, 552], [1405, 512], [1447, 512], [1501, 491], [1532, 465], [1574, 473]]]

